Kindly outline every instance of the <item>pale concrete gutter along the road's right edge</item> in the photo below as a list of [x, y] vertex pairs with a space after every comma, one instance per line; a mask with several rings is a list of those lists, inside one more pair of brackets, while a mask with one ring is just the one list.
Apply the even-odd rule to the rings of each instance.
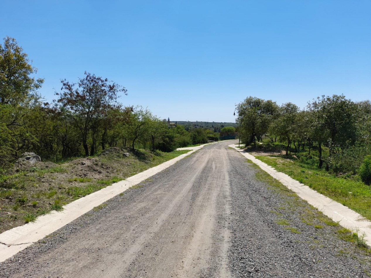
[[283, 185], [298, 194], [300, 198], [307, 201], [309, 204], [317, 208], [335, 222], [338, 222], [339, 225], [354, 232], [358, 231], [359, 236], [364, 235], [367, 245], [371, 247], [371, 222], [365, 219], [362, 215], [352, 211], [347, 206], [344, 206], [341, 203], [338, 203], [318, 193], [317, 191], [309, 188], [309, 186], [296, 181], [290, 176], [277, 172], [275, 168], [267, 165], [259, 159], [256, 159], [255, 156], [250, 155], [246, 151], [237, 148], [234, 144], [229, 146], [236, 149], [247, 159], [250, 159], [270, 176], [278, 179], [278, 181], [280, 181]]

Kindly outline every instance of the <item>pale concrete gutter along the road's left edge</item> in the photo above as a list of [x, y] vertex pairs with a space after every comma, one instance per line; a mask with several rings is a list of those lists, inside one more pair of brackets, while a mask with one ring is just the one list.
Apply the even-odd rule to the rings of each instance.
[[153, 168], [147, 169], [144, 172], [138, 173], [137, 175], [131, 176], [124, 181], [116, 182], [111, 186], [107, 186], [99, 191], [73, 201], [68, 205], [63, 206], [63, 211], [52, 211], [50, 214], [39, 216], [36, 219], [36, 222], [30, 222], [23, 226], [18, 226], [3, 232], [0, 234], [0, 262], [5, 261], [7, 258], [12, 257], [24, 248], [62, 228], [79, 216], [90, 211], [95, 206], [104, 203], [119, 193], [131, 188], [131, 186], [150, 178], [158, 172], [161, 172], [175, 164], [177, 161], [185, 158], [193, 152], [196, 152], [196, 150], [203, 148], [205, 145], [208, 144], [190, 148], [179, 148], [177, 150], [190, 151]]

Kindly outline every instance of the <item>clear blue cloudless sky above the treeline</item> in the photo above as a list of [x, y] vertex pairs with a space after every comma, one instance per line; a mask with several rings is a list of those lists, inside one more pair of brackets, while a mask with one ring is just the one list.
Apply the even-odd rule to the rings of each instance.
[[1, 0], [0, 10], [1, 37], [33, 60], [48, 101], [85, 70], [125, 86], [124, 105], [174, 121], [234, 122], [247, 96], [303, 108], [371, 95], [370, 0]]

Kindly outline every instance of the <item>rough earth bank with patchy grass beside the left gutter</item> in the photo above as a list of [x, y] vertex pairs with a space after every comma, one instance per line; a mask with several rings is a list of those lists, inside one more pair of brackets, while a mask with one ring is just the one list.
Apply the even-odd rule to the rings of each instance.
[[12, 175], [0, 176], [0, 233], [114, 182], [135, 175], [187, 151], [152, 153], [113, 147], [99, 155], [62, 164], [24, 162]]

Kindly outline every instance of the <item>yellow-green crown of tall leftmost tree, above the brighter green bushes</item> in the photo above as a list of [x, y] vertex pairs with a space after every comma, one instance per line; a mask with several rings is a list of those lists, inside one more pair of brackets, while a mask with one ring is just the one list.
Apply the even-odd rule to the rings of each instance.
[[2, 105], [16, 106], [30, 97], [38, 98], [36, 91], [44, 80], [30, 77], [37, 72], [37, 69], [29, 62], [27, 54], [23, 52], [22, 47], [18, 46], [16, 40], [5, 37], [4, 45], [0, 44], [0, 103]]

